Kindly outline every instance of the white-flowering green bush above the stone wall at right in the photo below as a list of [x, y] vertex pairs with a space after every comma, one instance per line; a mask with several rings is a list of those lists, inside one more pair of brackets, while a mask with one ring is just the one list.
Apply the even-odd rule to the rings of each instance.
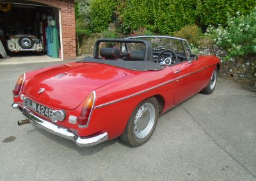
[[246, 17], [240, 15], [236, 17], [228, 15], [227, 27], [215, 28], [209, 25], [205, 34], [212, 37], [216, 45], [227, 52], [224, 60], [232, 57], [256, 55], [256, 7], [250, 11]]

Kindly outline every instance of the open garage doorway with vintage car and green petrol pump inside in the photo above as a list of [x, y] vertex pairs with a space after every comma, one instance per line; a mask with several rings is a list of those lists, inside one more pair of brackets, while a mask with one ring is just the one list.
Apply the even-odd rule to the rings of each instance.
[[34, 61], [61, 59], [60, 33], [59, 8], [32, 1], [0, 0], [0, 40], [8, 61], [19, 57]]

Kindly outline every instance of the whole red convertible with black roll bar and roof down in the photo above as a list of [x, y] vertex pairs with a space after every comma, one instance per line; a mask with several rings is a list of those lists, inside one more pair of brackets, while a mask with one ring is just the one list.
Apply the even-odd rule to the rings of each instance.
[[169, 36], [101, 39], [93, 57], [24, 73], [13, 108], [46, 131], [88, 147], [120, 137], [138, 147], [160, 113], [198, 92], [211, 94], [220, 59], [192, 54]]

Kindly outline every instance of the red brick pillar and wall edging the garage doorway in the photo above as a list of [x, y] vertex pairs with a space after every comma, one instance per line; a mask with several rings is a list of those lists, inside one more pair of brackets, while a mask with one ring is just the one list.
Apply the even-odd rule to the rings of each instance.
[[76, 22], [74, 0], [31, 0], [60, 8], [63, 41], [63, 59], [76, 58]]

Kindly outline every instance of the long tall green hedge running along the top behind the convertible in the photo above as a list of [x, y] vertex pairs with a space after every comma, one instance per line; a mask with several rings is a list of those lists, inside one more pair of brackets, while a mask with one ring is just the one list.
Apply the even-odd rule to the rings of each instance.
[[184, 25], [206, 29], [210, 24], [227, 25], [227, 14], [239, 11], [247, 15], [255, 0], [91, 0], [90, 27], [93, 32], [108, 29], [113, 11], [118, 17], [120, 33], [145, 27], [161, 34], [172, 34]]

